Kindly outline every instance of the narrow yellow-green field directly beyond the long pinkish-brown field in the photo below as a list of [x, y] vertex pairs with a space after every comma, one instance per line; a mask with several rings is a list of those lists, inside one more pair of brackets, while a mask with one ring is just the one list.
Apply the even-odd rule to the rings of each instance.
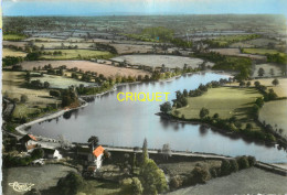
[[[92, 51], [92, 50], [44, 50], [42, 59], [82, 59], [82, 58], [110, 58], [113, 54], [109, 52]], [[62, 54], [53, 55], [54, 52], [62, 52]]]

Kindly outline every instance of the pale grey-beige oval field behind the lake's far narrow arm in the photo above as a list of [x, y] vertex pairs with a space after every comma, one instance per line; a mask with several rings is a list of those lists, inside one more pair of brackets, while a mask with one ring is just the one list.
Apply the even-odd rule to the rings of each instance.
[[[113, 61], [124, 62], [126, 61], [130, 65], [144, 65], [152, 67], [161, 67], [164, 64], [169, 68], [183, 68], [184, 64], [192, 68], [199, 67], [203, 63], [201, 58], [182, 57], [173, 55], [123, 55], [111, 58]], [[212, 63], [208, 63], [212, 66]]]

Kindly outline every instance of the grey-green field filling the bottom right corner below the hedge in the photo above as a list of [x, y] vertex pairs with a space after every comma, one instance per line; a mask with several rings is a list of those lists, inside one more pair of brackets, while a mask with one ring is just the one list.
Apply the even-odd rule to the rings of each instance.
[[287, 194], [287, 176], [252, 167], [217, 177], [205, 185], [178, 189], [168, 195]]

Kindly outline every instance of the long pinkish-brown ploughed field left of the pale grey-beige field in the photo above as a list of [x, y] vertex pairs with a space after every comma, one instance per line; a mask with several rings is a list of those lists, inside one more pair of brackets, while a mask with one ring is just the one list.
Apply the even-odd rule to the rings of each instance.
[[66, 65], [67, 68], [78, 67], [84, 72], [91, 71], [91, 72], [96, 72], [98, 75], [103, 74], [105, 77], [116, 76], [116, 75], [120, 75], [120, 76], [150, 75], [150, 73], [141, 69], [132, 69], [132, 68], [107, 65], [110, 64], [110, 62], [108, 62], [107, 64], [99, 64], [89, 61], [33, 61], [33, 62], [21, 63], [23, 69], [30, 69], [30, 71], [32, 71], [33, 67], [39, 67], [39, 66], [43, 67], [47, 64], [51, 64], [52, 67], [59, 67], [62, 65]]

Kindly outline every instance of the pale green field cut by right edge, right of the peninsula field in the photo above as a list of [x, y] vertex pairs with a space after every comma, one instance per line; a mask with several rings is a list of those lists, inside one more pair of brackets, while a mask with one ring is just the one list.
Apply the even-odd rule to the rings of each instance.
[[283, 134], [287, 136], [287, 100], [276, 100], [265, 102], [259, 111], [259, 120], [274, 127], [283, 129]]

